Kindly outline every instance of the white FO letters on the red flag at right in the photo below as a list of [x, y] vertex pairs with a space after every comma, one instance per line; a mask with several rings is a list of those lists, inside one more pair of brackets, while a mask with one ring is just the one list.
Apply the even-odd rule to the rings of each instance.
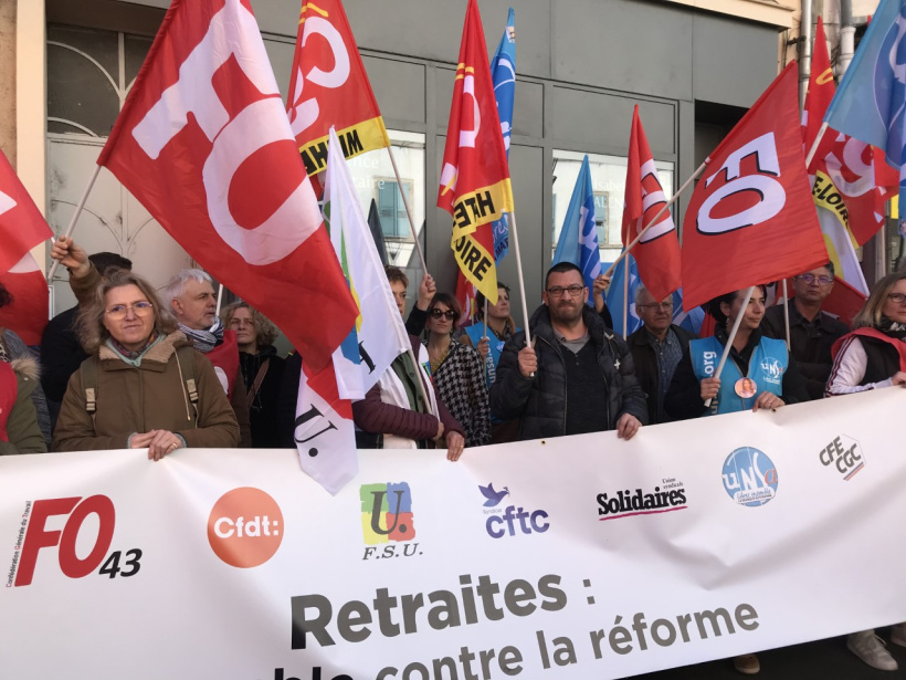
[[[742, 169], [742, 160], [754, 157], [755, 172]], [[705, 234], [721, 234], [767, 222], [776, 217], [787, 201], [787, 191], [777, 178], [780, 161], [773, 133], [767, 133], [727, 156], [724, 165], [705, 180], [710, 188], [718, 177], [725, 184], [708, 190], [698, 211], [696, 228]]]

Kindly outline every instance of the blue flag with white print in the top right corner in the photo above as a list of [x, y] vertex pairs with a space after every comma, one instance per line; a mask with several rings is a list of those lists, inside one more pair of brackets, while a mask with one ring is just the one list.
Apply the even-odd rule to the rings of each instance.
[[[906, 0], [881, 0], [824, 121], [830, 127], [884, 149], [899, 170], [906, 196]], [[902, 219], [902, 217], [900, 217]]]

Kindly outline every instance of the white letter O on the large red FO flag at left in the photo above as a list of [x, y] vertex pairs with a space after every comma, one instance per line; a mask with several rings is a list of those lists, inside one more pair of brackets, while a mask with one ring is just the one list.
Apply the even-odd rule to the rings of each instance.
[[[277, 111], [272, 111], [277, 109]], [[230, 211], [230, 184], [240, 166], [271, 144], [291, 140], [287, 128], [273, 126], [277, 115], [285, 116], [278, 97], [250, 104], [214, 139], [204, 161], [202, 179], [208, 193], [208, 213], [223, 241], [249, 264], [271, 264], [298, 248], [322, 223], [312, 185], [299, 168], [299, 186], [282, 206], [253, 229], [236, 223]], [[254, 200], [255, 197], [250, 197]], [[301, 219], [302, 218], [302, 219]]]

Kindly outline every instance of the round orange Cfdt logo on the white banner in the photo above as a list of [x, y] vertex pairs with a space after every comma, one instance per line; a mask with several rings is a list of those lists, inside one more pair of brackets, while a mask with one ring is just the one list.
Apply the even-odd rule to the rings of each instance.
[[208, 542], [227, 564], [249, 568], [264, 564], [283, 541], [283, 513], [261, 489], [243, 487], [224, 493], [208, 517]]

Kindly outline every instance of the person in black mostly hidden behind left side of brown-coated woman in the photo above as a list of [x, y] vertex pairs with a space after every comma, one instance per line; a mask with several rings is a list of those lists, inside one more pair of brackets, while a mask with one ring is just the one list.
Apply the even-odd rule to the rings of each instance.
[[[117, 253], [98, 252], [92, 255], [70, 240], [70, 244], [77, 249], [80, 262], [71, 262], [70, 281], [72, 282], [80, 274], [88, 275], [91, 270], [97, 271], [97, 279], [107, 275], [108, 270], [124, 269], [131, 271], [131, 260]], [[74, 253], [75, 254], [75, 253]], [[75, 335], [75, 318], [81, 308], [81, 300], [76, 305], [60, 312], [48, 325], [41, 336], [41, 387], [48, 398], [51, 423], [56, 425], [56, 415], [60, 412], [60, 404], [63, 395], [66, 394], [66, 386], [70, 384], [70, 376], [76, 372], [88, 355], [78, 344]]]

